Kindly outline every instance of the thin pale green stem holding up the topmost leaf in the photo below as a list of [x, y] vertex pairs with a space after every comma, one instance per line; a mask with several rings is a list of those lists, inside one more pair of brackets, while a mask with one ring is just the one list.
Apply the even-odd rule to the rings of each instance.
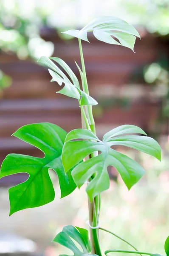
[[[81, 63], [82, 63], [82, 72], [83, 72], [82, 87], [83, 87], [83, 91], [89, 95], [86, 69], [85, 69], [85, 61], [84, 61], [83, 50], [82, 50], [82, 42], [81, 42], [81, 39], [78, 39], [78, 40], [79, 40], [80, 58], [81, 58]], [[90, 129], [91, 129], [91, 131], [93, 131], [94, 134], [96, 134], [95, 122], [94, 122], [93, 112], [92, 112], [92, 106], [86, 106], [86, 114], [87, 114], [87, 118], [88, 118], [88, 121], [89, 121]]]

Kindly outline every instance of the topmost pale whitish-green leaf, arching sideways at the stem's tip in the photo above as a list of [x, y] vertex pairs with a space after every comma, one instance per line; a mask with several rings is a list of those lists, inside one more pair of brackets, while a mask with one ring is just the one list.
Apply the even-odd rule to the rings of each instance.
[[108, 44], [123, 45], [132, 50], [135, 44], [135, 37], [138, 36], [140, 38], [133, 26], [113, 16], [98, 17], [81, 30], [71, 29], [64, 33], [89, 42], [87, 38], [87, 32], [89, 31], [93, 31], [94, 36], [100, 41]]

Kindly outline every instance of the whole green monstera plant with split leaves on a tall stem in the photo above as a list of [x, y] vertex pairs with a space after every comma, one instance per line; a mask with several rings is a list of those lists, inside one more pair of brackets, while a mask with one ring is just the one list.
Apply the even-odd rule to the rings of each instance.
[[[48, 174], [50, 168], [59, 178], [61, 198], [69, 195], [76, 187], [80, 188], [87, 183], [90, 238], [86, 229], [71, 225], [63, 227], [62, 232], [54, 238], [54, 242], [72, 250], [74, 256], [90, 254], [101, 256], [103, 252], [99, 242], [99, 230], [115, 235], [99, 225], [101, 192], [109, 189], [110, 186], [107, 166], [114, 166], [117, 169], [128, 189], [144, 175], [144, 169], [137, 162], [116, 151], [114, 146], [124, 145], [161, 160], [161, 147], [135, 125], [119, 126], [104, 134], [102, 140], [97, 137], [92, 106], [98, 103], [89, 95], [82, 52], [82, 40], [88, 42], [88, 32], [93, 32], [93, 35], [100, 41], [132, 50], [136, 37], [140, 38], [133, 26], [117, 17], [109, 16], [96, 18], [81, 30], [64, 32], [78, 38], [82, 69], [77, 63], [76, 66], [81, 76], [81, 83], [62, 59], [42, 56], [39, 62], [49, 68], [51, 81], [61, 86], [61, 90], [57, 93], [79, 101], [83, 127], [70, 131], [68, 134], [59, 126], [51, 123], [37, 123], [21, 127], [13, 135], [39, 148], [45, 156], [38, 158], [9, 154], [3, 161], [0, 171], [0, 178], [21, 172], [29, 174], [28, 180], [9, 189], [10, 215], [19, 210], [48, 204], [54, 200], [54, 187]], [[127, 244], [130, 243], [127, 242]], [[111, 252], [152, 254], [139, 252], [132, 244], [130, 246], [134, 250], [106, 250], [105, 255]], [[165, 250], [168, 256], [169, 238], [166, 240]]]

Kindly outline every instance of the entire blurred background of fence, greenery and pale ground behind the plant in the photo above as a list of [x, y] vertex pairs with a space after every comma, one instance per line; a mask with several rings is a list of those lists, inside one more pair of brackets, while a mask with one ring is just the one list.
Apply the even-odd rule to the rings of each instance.
[[[48, 70], [37, 64], [42, 56], [62, 58], [79, 73], [77, 39], [61, 34], [81, 29], [99, 15], [112, 15], [133, 24], [141, 35], [135, 52], [104, 44], [89, 33], [83, 42], [96, 131], [101, 137], [123, 124], [138, 125], [160, 143], [162, 162], [119, 147], [146, 169], [130, 192], [115, 169], [109, 169], [110, 189], [102, 193], [101, 226], [128, 239], [139, 250], [164, 253], [169, 236], [169, 2], [168, 0], [0, 0], [0, 162], [9, 153], [40, 157], [36, 148], [11, 137], [22, 125], [53, 122], [66, 131], [81, 127], [75, 99], [56, 94]], [[85, 186], [55, 200], [8, 217], [8, 188], [25, 174], [0, 180], [0, 255], [56, 256], [67, 250], [51, 244], [64, 225], [87, 228]], [[130, 249], [101, 231], [103, 249]]]

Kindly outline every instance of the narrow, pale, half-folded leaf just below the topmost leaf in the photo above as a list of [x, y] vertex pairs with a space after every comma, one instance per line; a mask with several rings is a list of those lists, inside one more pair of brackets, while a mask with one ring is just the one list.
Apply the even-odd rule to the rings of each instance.
[[[66, 76], [62, 70], [57, 67], [53, 61], [56, 61], [67, 73], [68, 76]], [[44, 64], [45, 66], [49, 67], [49, 73], [52, 76], [51, 81], [56, 81], [59, 85], [65, 84], [65, 86], [59, 90], [57, 93], [62, 93], [68, 97], [72, 97], [75, 99], [79, 99], [80, 106], [82, 105], [97, 105], [95, 99], [93, 99], [91, 96], [87, 95], [80, 89], [79, 81], [73, 71], [70, 69], [70, 67], [60, 58], [56, 57], [45, 57], [42, 56], [38, 60], [40, 63]], [[70, 79], [69, 79], [69, 78]]]

